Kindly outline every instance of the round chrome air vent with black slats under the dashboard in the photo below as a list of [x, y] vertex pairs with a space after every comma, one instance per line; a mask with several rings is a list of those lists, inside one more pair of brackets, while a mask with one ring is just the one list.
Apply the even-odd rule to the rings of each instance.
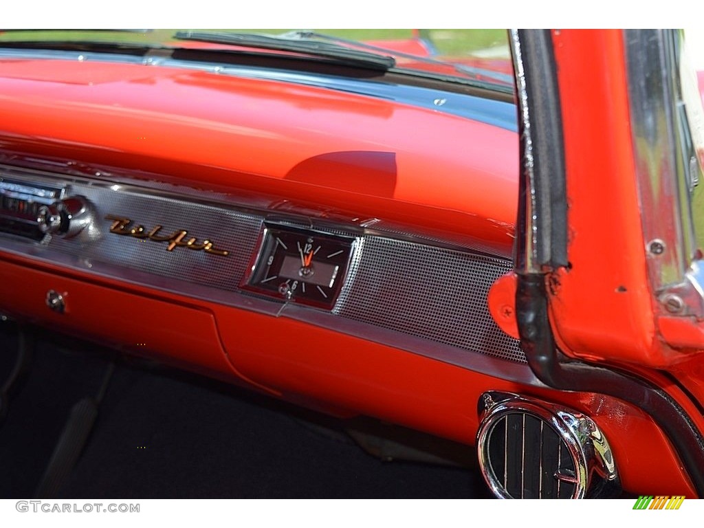
[[479, 417], [479, 466], [497, 497], [605, 498], [620, 493], [608, 441], [588, 416], [536, 398], [489, 391], [479, 399]]

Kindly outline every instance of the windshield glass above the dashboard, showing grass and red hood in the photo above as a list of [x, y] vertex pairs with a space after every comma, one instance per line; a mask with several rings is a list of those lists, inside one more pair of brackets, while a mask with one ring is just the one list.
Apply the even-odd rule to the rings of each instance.
[[338, 57], [403, 75], [513, 92], [505, 30], [0, 30], [5, 48], [56, 49], [77, 43], [83, 49], [101, 44], [103, 51], [114, 45]]

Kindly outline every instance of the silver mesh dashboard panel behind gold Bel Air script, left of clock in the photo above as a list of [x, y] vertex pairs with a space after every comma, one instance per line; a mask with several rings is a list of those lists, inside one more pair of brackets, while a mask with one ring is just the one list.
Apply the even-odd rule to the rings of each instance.
[[[94, 244], [78, 245], [68, 239], [54, 238], [48, 246], [62, 253], [100, 260], [125, 268], [172, 277], [184, 282], [238, 291], [256, 242], [262, 216], [235, 210], [191, 203], [153, 194], [134, 194], [106, 187], [71, 184], [73, 194], [89, 199], [102, 222], [101, 239]], [[153, 242], [108, 232], [111, 220], [106, 215], [130, 218], [149, 230], [163, 226], [163, 232], [187, 230], [188, 237], [210, 239], [215, 246], [230, 252], [227, 257], [204, 251], [175, 248], [167, 251], [166, 242]]]

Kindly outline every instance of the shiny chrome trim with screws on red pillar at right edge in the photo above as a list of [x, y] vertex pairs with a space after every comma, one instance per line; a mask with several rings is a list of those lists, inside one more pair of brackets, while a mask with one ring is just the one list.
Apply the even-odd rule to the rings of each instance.
[[[631, 134], [648, 275], [665, 315], [704, 316], [702, 261], [693, 218], [701, 167], [680, 75], [674, 30], [625, 30]], [[698, 102], [698, 101], [697, 101]], [[700, 213], [701, 214], [701, 213]]]

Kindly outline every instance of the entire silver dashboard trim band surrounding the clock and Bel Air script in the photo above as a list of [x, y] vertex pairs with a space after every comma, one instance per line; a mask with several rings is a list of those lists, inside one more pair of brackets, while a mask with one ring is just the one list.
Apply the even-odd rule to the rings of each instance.
[[[96, 232], [89, 240], [47, 235], [42, 243], [0, 234], [0, 250], [270, 315], [295, 313], [299, 320], [371, 341], [386, 340], [391, 346], [439, 360], [446, 360], [446, 352], [467, 351], [466, 361], [451, 362], [482, 371], [486, 369], [483, 360], [472, 358], [509, 360], [521, 367], [526, 363], [519, 342], [501, 332], [486, 306], [491, 284], [511, 268], [505, 258], [450, 242], [443, 247], [441, 241], [413, 232], [372, 231], [341, 220], [321, 223], [307, 214], [272, 210], [262, 197], [237, 201], [225, 194], [171, 189], [158, 183], [154, 188], [136, 187], [120, 180], [113, 184], [112, 178], [106, 182], [10, 167], [0, 167], [0, 176], [59, 185], [70, 196], [83, 196], [94, 210]], [[229, 254], [180, 246], [167, 251], [167, 241], [110, 232], [113, 220], [106, 216], [129, 218], [131, 227], [142, 225], [145, 232], [156, 226], [162, 226], [160, 234], [167, 236], [187, 231], [185, 240], [195, 237], [202, 244], [209, 239]], [[332, 313], [298, 306], [300, 310], [283, 310], [283, 300], [255, 298], [241, 290], [259, 252], [264, 222], [272, 219], [356, 237], [346, 283]], [[328, 317], [321, 322], [318, 315]], [[361, 333], [360, 325], [365, 327]]]

